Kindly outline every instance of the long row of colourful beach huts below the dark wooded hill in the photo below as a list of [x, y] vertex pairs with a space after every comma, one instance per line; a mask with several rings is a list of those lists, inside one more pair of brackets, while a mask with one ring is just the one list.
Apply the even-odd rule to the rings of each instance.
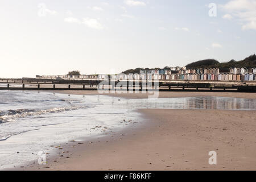
[[220, 72], [218, 68], [208, 69], [141, 69], [140, 74], [115, 75], [57, 75], [36, 76], [48, 79], [92, 79], [92, 80], [211, 80], [211, 81], [255, 81], [256, 68], [230, 68], [227, 72]]

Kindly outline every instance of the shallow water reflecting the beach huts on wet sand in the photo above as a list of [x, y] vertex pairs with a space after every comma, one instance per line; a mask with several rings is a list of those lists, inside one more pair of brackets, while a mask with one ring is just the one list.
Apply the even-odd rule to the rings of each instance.
[[[117, 104], [117, 103], [115, 103]], [[182, 97], [130, 99], [119, 102], [118, 108], [125, 109], [219, 109], [219, 110], [256, 110], [256, 100], [233, 97]]]

